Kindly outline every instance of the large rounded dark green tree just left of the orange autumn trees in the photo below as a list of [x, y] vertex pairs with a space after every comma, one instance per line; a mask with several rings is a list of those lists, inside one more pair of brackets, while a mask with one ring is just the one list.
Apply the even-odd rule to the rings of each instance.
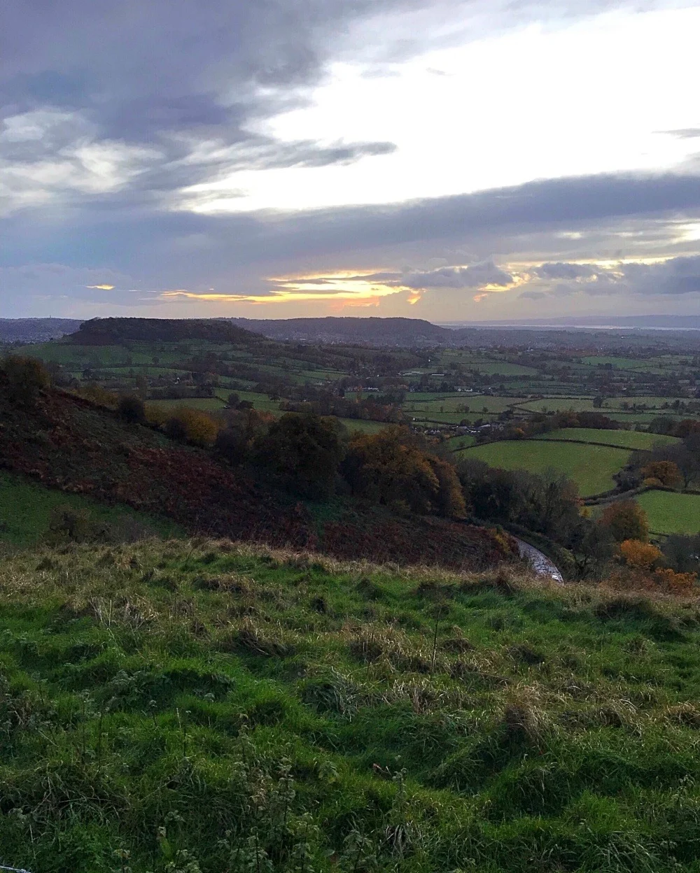
[[344, 448], [339, 423], [313, 413], [288, 413], [253, 443], [256, 464], [301, 497], [328, 498]]

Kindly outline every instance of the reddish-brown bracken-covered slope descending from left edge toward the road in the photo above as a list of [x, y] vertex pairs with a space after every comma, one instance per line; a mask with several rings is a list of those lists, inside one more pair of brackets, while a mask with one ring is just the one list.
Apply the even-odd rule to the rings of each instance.
[[484, 528], [399, 517], [357, 501], [305, 505], [211, 453], [173, 443], [59, 391], [10, 399], [0, 372], [0, 466], [43, 485], [165, 516], [191, 533], [317, 548], [340, 558], [443, 563], [512, 560], [508, 538]]

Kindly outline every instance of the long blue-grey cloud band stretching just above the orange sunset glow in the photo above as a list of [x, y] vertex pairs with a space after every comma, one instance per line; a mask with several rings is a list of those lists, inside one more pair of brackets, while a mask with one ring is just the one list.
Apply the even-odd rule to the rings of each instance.
[[[212, 285], [246, 268], [269, 275], [309, 258], [350, 253], [357, 264], [371, 261], [372, 251], [397, 247], [434, 251], [436, 244], [468, 242], [493, 252], [509, 237], [516, 238], [520, 251], [531, 251], [534, 239], [554, 244], [562, 231], [600, 233], [603, 224], [614, 228], [634, 221], [640, 230], [650, 223], [661, 237], [657, 225], [695, 215], [700, 216], [700, 176], [672, 174], [558, 179], [392, 206], [296, 214], [156, 212], [148, 204], [135, 206], [131, 194], [117, 193], [86, 197], [68, 215], [52, 218], [50, 210], [42, 210], [0, 222], [5, 243], [0, 263], [118, 264], [151, 281], [163, 277], [158, 284]], [[593, 256], [600, 251], [600, 237], [595, 244]], [[612, 245], [620, 243], [613, 238]], [[377, 280], [382, 278], [399, 277]]]

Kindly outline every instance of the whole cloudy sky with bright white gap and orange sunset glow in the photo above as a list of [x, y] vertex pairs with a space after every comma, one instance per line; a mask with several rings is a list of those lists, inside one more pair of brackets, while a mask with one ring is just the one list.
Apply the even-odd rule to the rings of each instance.
[[0, 317], [700, 313], [700, 0], [4, 0]]

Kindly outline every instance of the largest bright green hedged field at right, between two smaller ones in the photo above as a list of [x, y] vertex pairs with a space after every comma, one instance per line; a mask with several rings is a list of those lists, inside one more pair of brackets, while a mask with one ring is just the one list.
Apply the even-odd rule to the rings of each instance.
[[626, 464], [629, 452], [598, 445], [516, 440], [478, 445], [461, 452], [461, 457], [477, 457], [505, 470], [565, 473], [586, 497], [614, 487], [613, 474]]

